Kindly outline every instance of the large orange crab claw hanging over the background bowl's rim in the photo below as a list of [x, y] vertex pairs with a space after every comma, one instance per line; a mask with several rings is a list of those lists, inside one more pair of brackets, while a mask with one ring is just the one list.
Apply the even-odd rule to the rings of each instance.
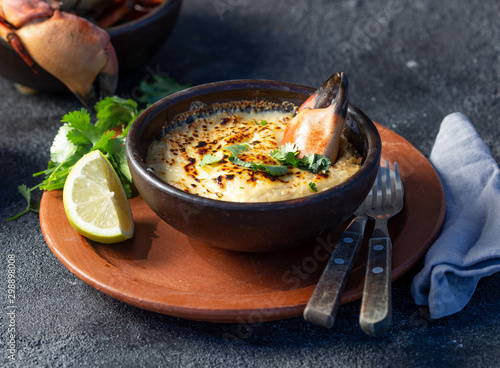
[[99, 96], [114, 94], [118, 60], [109, 34], [89, 21], [54, 10], [52, 17], [16, 31], [31, 57], [63, 82], [89, 109]]

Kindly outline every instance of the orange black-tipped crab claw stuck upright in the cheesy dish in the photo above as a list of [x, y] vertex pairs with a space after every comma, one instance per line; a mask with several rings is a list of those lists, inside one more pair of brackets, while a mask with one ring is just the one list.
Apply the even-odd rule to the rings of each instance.
[[316, 153], [335, 162], [348, 105], [347, 77], [336, 73], [299, 108], [288, 123], [281, 144], [294, 143], [299, 157]]

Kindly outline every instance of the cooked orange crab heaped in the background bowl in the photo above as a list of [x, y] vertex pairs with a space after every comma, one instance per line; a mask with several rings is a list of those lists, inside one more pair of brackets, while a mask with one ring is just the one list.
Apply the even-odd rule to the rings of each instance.
[[38, 64], [91, 108], [97, 97], [114, 94], [118, 81], [118, 60], [103, 28], [134, 7], [161, 2], [0, 0], [0, 36], [33, 72]]

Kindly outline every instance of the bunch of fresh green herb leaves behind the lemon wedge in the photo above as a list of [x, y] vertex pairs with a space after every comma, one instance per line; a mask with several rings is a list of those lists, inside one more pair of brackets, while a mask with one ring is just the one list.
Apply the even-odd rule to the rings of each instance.
[[33, 174], [34, 177], [42, 176], [42, 182], [32, 188], [24, 184], [18, 187], [28, 206], [7, 221], [15, 220], [30, 211], [38, 212], [39, 203], [31, 203], [31, 192], [35, 189], [63, 189], [76, 162], [94, 150], [100, 150], [106, 156], [120, 178], [127, 196], [132, 196], [133, 184], [125, 154], [125, 139], [130, 125], [141, 111], [137, 109], [135, 101], [118, 96], [100, 100], [95, 110], [95, 124], [92, 124], [90, 114], [85, 109], [63, 116], [61, 122], [64, 124], [59, 128], [50, 148], [47, 169]]

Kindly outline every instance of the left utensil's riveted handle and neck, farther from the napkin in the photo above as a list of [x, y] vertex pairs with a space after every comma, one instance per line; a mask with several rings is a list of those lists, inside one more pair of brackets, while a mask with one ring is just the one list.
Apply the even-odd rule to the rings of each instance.
[[340, 235], [304, 309], [304, 319], [321, 327], [333, 326], [347, 278], [363, 242], [363, 233], [368, 220], [365, 214], [365, 202], [354, 212], [354, 216], [355, 218]]

